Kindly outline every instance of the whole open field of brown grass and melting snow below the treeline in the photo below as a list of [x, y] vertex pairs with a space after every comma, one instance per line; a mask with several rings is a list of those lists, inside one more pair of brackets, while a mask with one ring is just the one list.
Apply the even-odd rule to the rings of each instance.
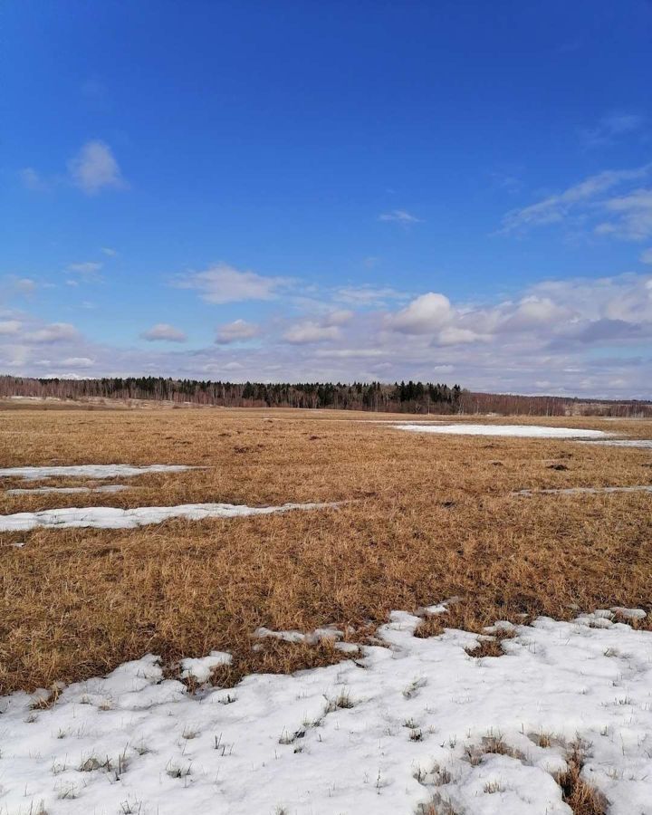
[[[0, 472], [0, 529], [148, 516], [0, 532], [0, 815], [650, 811], [649, 447], [210, 408], [0, 438], [0, 471], [95, 465]], [[237, 516], [288, 503], [325, 505]]]

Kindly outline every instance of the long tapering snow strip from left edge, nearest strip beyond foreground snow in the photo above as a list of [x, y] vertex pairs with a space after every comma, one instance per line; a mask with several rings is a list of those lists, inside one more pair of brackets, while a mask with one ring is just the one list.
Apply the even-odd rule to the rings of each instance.
[[[282, 506], [246, 506], [234, 503], [180, 503], [178, 506], [139, 506], [119, 509], [112, 506], [68, 507], [38, 513], [0, 515], [0, 532], [27, 532], [37, 526], [51, 529], [92, 527], [93, 529], [132, 529], [172, 518], [204, 521], [206, 518], [239, 518], [245, 515], [289, 513], [292, 510], [325, 509], [339, 503], [283, 503]], [[0, 815], [3, 815], [0, 810]]]

